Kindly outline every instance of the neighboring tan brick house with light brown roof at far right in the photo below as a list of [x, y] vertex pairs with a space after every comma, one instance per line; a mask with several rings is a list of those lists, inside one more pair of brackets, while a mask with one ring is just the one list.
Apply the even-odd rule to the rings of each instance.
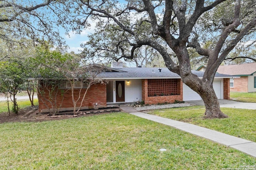
[[256, 63], [219, 66], [217, 72], [233, 76], [230, 92], [256, 92]]

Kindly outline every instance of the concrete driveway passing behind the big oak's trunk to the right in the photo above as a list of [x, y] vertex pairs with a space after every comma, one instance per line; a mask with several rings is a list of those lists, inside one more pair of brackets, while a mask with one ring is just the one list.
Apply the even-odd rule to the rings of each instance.
[[[204, 102], [202, 100], [194, 100], [194, 101], [186, 101], [190, 104], [195, 104], [199, 106], [204, 106]], [[256, 109], [256, 103], [243, 103], [243, 102], [236, 102], [232, 100], [219, 100], [220, 107], [231, 107], [231, 108], [238, 108], [238, 109]]]

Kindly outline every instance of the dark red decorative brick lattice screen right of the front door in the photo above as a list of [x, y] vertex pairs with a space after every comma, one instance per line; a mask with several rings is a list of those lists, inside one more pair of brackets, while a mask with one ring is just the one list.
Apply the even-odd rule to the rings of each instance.
[[180, 95], [180, 79], [148, 79], [148, 97]]

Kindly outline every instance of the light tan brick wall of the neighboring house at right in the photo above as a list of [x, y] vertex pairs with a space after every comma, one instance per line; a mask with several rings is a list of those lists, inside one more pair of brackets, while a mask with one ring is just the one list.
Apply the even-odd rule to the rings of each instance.
[[230, 92], [248, 92], [248, 76], [234, 78], [234, 88], [230, 88]]

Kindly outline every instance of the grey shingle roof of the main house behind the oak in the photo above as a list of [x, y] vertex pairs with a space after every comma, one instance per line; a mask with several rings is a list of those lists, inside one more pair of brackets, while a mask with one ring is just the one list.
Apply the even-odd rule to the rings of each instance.
[[[161, 72], [159, 72], [159, 69], [161, 69]], [[104, 79], [180, 78], [178, 74], [171, 72], [168, 68], [124, 67], [124, 68], [118, 68], [118, 70], [123, 72], [118, 72], [118, 71], [101, 72], [99, 76]], [[204, 76], [204, 72], [202, 71], [192, 70], [192, 73], [196, 74], [198, 77]], [[216, 73], [215, 77], [231, 78], [232, 76]]]

